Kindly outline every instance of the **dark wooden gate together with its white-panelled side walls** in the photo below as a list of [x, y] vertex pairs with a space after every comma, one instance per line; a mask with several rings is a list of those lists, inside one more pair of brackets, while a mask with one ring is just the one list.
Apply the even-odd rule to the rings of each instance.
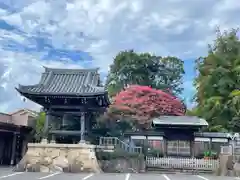
[[219, 153], [229, 142], [227, 133], [201, 132], [208, 123], [193, 116], [162, 116], [152, 121], [153, 128], [144, 132], [129, 132], [134, 144], [148, 143], [150, 149], [159, 150], [163, 156], [202, 156], [205, 151]]

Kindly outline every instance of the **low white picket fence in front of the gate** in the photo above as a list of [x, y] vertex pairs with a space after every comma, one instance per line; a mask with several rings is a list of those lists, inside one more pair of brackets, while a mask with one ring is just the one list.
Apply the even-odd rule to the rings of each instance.
[[147, 167], [160, 169], [186, 169], [214, 171], [219, 167], [219, 160], [172, 157], [147, 157]]

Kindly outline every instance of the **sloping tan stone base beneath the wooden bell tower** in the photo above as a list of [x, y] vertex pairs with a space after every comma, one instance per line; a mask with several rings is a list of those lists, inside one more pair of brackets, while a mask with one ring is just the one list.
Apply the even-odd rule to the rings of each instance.
[[15, 171], [101, 172], [90, 144], [29, 143], [28, 151]]

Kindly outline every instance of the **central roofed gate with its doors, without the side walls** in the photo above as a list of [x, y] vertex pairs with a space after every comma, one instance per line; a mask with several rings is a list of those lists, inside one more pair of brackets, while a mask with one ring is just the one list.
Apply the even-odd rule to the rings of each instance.
[[185, 156], [194, 156], [194, 133], [208, 126], [206, 120], [196, 116], [161, 116], [154, 118], [152, 124], [163, 133], [165, 155]]

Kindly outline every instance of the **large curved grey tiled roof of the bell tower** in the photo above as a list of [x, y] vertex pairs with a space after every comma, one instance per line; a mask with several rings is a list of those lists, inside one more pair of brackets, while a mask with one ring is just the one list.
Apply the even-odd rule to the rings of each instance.
[[99, 86], [98, 69], [53, 69], [45, 67], [36, 85], [19, 85], [17, 90], [31, 94], [94, 95], [105, 93]]

